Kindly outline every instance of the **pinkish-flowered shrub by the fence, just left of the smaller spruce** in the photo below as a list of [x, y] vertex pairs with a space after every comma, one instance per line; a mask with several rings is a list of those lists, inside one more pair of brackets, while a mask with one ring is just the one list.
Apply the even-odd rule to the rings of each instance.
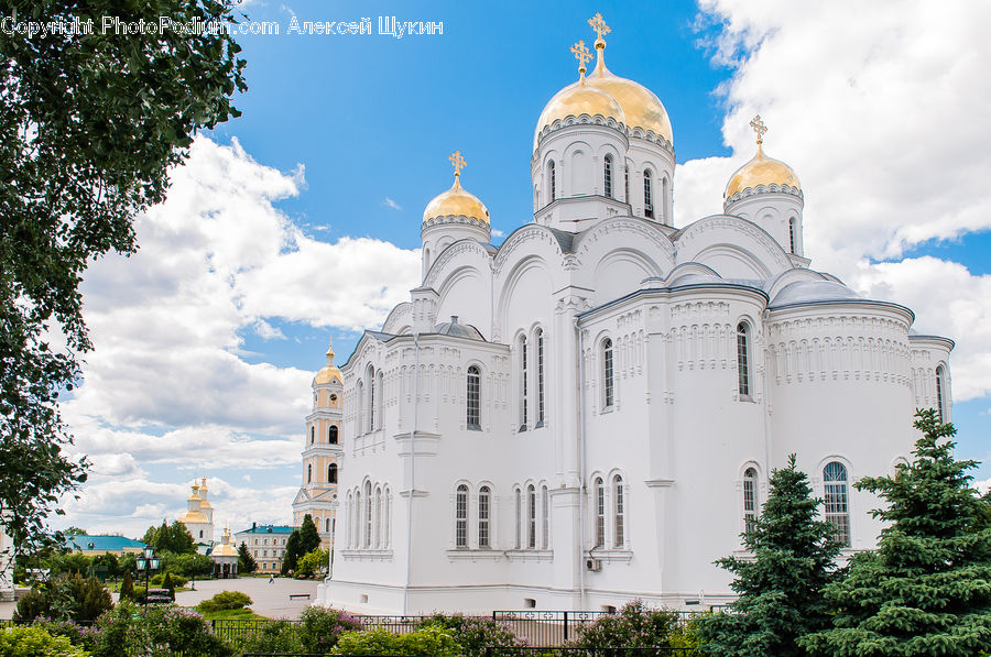
[[601, 616], [579, 628], [578, 637], [569, 645], [586, 649], [671, 647], [672, 636], [678, 633], [676, 612], [650, 609], [642, 600], [634, 600], [619, 613]]

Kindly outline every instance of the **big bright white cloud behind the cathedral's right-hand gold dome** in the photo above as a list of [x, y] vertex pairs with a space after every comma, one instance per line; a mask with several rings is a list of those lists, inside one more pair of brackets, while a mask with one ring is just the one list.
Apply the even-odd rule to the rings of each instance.
[[991, 4], [839, 0], [795, 11], [787, 0], [703, 0], [700, 7], [720, 25], [709, 52], [733, 68], [718, 92], [734, 154], [678, 166], [676, 219], [684, 225], [721, 211], [728, 177], [754, 152], [749, 121], [760, 113], [770, 127], [765, 152], [802, 180], [813, 266], [858, 292], [911, 306], [916, 328], [956, 339], [958, 401], [991, 392], [991, 342], [973, 321], [991, 315], [987, 276], [936, 259], [878, 262], [930, 239], [991, 228], [984, 119], [991, 41], [983, 34]]

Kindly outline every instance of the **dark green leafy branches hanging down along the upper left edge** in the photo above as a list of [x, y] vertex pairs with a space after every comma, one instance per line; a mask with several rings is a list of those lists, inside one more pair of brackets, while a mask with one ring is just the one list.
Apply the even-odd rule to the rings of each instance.
[[[0, 517], [18, 546], [87, 462], [58, 395], [92, 344], [79, 283], [90, 261], [132, 253], [133, 218], [165, 198], [193, 135], [238, 116], [244, 62], [226, 31], [101, 30], [102, 17], [229, 21], [232, 0], [11, 0], [18, 21], [91, 20], [90, 33], [0, 32]], [[56, 540], [61, 537], [56, 537]]]

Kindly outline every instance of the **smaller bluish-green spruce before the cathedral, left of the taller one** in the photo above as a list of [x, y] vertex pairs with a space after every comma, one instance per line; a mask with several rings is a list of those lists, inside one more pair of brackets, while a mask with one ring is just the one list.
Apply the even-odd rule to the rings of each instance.
[[770, 493], [753, 527], [742, 535], [752, 559], [717, 561], [736, 573], [733, 613], [699, 620], [697, 632], [710, 655], [789, 657], [805, 655], [798, 637], [828, 626], [821, 589], [836, 576], [840, 546], [836, 529], [818, 519], [804, 472], [788, 466], [771, 473]]

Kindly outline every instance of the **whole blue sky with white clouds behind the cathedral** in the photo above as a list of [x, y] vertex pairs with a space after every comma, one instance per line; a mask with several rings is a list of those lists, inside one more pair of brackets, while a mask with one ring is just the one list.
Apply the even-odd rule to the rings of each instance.
[[[568, 48], [591, 46], [597, 11], [610, 69], [671, 116], [676, 223], [721, 211], [760, 112], [769, 154], [802, 178], [812, 266], [957, 339], [959, 453], [987, 459], [991, 87], [977, 63], [991, 47], [970, 32], [987, 10], [949, 4], [952, 21], [910, 0], [242, 6], [281, 32], [238, 37], [243, 116], [194, 146], [170, 200], [139, 220], [142, 251], [87, 276], [97, 351], [67, 417], [96, 468], [64, 522], [140, 534], [204, 472], [220, 523], [287, 522], [328, 337], [342, 362], [358, 327], [418, 283], [421, 213], [450, 185], [454, 150], [497, 231], [532, 220], [534, 122], [577, 78]], [[444, 31], [287, 34], [293, 17]]]

